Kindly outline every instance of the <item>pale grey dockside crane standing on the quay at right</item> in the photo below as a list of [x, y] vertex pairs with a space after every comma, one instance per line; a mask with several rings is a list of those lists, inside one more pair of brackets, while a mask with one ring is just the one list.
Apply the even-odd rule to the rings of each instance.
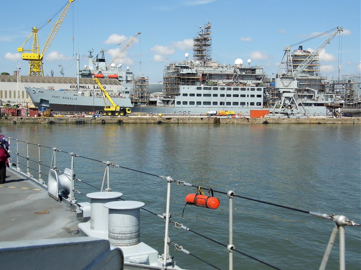
[[296, 89], [298, 87], [297, 76], [299, 76], [300, 73], [303, 72], [304, 69], [308, 67], [314, 58], [322, 51], [322, 49], [325, 48], [331, 42], [331, 40], [342, 31], [343, 28], [338, 26], [336, 30], [325, 41], [323, 41], [322, 44], [319, 45], [318, 48], [314, 50], [295, 70], [293, 70], [291, 46], [286, 46], [275, 81], [275, 88], [279, 91], [279, 98], [278, 102], [275, 103], [270, 113], [283, 113], [288, 116], [304, 113], [300, 111], [300, 107], [303, 107], [302, 103], [295, 98]]

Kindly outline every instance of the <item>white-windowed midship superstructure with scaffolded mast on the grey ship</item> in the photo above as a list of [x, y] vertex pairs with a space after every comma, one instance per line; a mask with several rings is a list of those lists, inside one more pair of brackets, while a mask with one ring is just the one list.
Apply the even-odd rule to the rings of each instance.
[[171, 107], [174, 112], [238, 111], [249, 112], [264, 106], [261, 66], [234, 65], [212, 61], [211, 24], [200, 28], [193, 38], [193, 59], [170, 63], [165, 67], [163, 96], [158, 107]]

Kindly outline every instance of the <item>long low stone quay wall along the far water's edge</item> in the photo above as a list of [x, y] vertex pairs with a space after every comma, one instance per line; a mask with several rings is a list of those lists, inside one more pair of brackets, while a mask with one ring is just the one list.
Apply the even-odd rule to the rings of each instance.
[[200, 124], [360, 124], [361, 117], [310, 117], [310, 118], [225, 118], [225, 117], [8, 117], [0, 118], [0, 123], [200, 123]]

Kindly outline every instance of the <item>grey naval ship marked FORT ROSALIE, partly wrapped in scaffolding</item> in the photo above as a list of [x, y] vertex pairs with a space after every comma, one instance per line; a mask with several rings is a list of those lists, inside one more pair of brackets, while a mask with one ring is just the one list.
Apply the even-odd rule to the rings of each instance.
[[[117, 72], [116, 69], [121, 66], [115, 67], [114, 64], [107, 69], [104, 57], [97, 57], [95, 69], [90, 68], [93, 63], [89, 62], [79, 74], [87, 78], [123, 80], [122, 89], [108, 93], [114, 103], [129, 107], [132, 112], [205, 114], [209, 111], [234, 111], [247, 115], [252, 110], [258, 110], [272, 113], [282, 98], [279, 89], [275, 87], [278, 79], [268, 78], [262, 66], [251, 65], [251, 59], [244, 64], [243, 60], [238, 58], [233, 65], [213, 61], [211, 35], [211, 24], [206, 23], [193, 38], [193, 58], [188, 59], [189, 54], [186, 53], [185, 60], [165, 66], [161, 93], [149, 94], [144, 87], [146, 80], [140, 80], [142, 82], [140, 85], [144, 89], [138, 89], [134, 84], [136, 78], [133, 78], [130, 72]], [[290, 53], [289, 58], [292, 59], [290, 66], [296, 69], [310, 54], [300, 46], [292, 54]], [[344, 104], [355, 101], [349, 98], [349, 95], [353, 94], [352, 89], [355, 89], [356, 81], [345, 80], [341, 84], [338, 81], [336, 87], [328, 85], [326, 78], [319, 73], [319, 66], [317, 55], [297, 76], [299, 83], [292, 95], [297, 100], [297, 104], [300, 104], [297, 111], [303, 116], [325, 116], [330, 108], [327, 105], [330, 104], [335, 105], [331, 108], [335, 110], [333, 113], [337, 114]], [[103, 81], [100, 82], [103, 84]], [[130, 89], [132, 86], [134, 87]], [[348, 92], [343, 93], [342, 89], [348, 89]], [[32, 102], [38, 107], [49, 107], [54, 111], [84, 112], [104, 108], [102, 96], [98, 95], [97, 98], [91, 91], [86, 91], [82, 95], [73, 94], [77, 96], [69, 98], [69, 94], [65, 96], [65, 92], [58, 90], [26, 87]]]

